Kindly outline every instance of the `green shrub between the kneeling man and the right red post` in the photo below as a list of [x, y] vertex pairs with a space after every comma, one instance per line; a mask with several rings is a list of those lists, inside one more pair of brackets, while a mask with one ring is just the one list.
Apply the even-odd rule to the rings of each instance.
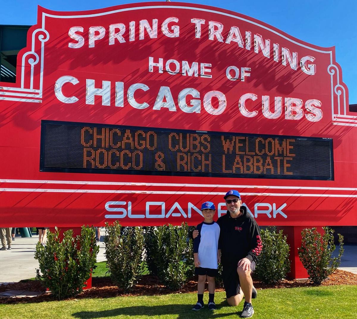
[[261, 230], [263, 249], [257, 258], [255, 273], [263, 283], [275, 283], [286, 277], [290, 271], [289, 250], [283, 231], [275, 227]]

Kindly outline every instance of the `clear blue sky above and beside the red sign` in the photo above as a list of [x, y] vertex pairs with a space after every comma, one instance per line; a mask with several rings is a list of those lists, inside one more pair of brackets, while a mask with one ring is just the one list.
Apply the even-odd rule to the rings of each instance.
[[[37, 5], [57, 11], [80, 11], [110, 7], [129, 2], [143, 1], [2, 1], [0, 24], [35, 24]], [[336, 46], [336, 61], [342, 67], [343, 82], [347, 84], [350, 93], [349, 102], [350, 104], [357, 104], [357, 1], [197, 0], [185, 2], [205, 4], [236, 11], [266, 22], [311, 44], [323, 47]]]

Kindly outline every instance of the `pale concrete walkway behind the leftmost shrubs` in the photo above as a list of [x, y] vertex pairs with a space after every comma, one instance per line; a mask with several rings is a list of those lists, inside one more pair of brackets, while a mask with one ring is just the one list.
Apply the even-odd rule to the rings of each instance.
[[[102, 233], [104, 234], [103, 231]], [[34, 253], [38, 240], [39, 236], [15, 237], [11, 244], [11, 250], [0, 250], [0, 284], [36, 277], [36, 268], [39, 268], [39, 263], [34, 258]], [[103, 236], [101, 240], [103, 240]], [[97, 262], [106, 260], [104, 252], [105, 244], [101, 241]]]

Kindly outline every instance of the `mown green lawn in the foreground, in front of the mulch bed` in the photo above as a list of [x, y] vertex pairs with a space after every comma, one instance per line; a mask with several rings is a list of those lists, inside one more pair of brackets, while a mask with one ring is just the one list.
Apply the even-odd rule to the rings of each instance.
[[[224, 297], [225, 293], [216, 293], [218, 309], [215, 312], [211, 312], [207, 307], [197, 312], [192, 311], [196, 294], [188, 293], [0, 304], [0, 318], [238, 318], [237, 314], [240, 314], [242, 304], [238, 307], [228, 307]], [[205, 300], [207, 298], [206, 293]], [[356, 300], [357, 287], [347, 285], [259, 290], [258, 298], [253, 301], [253, 318], [356, 319]]]

